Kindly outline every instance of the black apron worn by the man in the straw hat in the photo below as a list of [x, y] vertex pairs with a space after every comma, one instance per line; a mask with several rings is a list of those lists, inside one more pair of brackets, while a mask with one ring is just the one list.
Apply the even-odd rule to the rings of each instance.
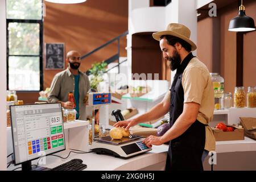
[[[194, 56], [189, 53], [177, 68], [171, 85], [170, 127], [183, 112], [184, 90], [182, 75], [189, 61]], [[169, 170], [203, 170], [201, 157], [205, 146], [205, 125], [195, 121], [182, 135], [169, 143], [166, 171]]]

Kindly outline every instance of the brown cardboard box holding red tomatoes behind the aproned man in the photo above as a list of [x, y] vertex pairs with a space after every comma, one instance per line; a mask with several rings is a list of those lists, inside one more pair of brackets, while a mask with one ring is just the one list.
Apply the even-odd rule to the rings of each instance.
[[[232, 126], [232, 125], [226, 125]], [[225, 140], [244, 140], [244, 130], [243, 128], [232, 126], [235, 128], [234, 131], [222, 131], [212, 127], [213, 135], [216, 141], [225, 141]]]

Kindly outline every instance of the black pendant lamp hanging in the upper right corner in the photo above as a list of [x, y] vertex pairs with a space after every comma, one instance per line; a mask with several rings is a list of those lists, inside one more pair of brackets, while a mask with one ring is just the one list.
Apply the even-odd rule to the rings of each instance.
[[245, 15], [245, 6], [243, 1], [239, 7], [238, 16], [232, 18], [229, 22], [229, 31], [245, 32], [255, 30], [255, 24], [253, 18]]

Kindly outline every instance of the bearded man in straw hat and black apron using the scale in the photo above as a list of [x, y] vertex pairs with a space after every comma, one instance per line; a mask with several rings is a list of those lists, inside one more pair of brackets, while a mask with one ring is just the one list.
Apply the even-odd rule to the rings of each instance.
[[169, 142], [166, 170], [203, 170], [202, 158], [215, 150], [215, 139], [208, 123], [214, 110], [213, 83], [207, 67], [191, 51], [196, 44], [190, 40], [191, 31], [183, 24], [171, 23], [166, 31], [152, 36], [160, 43], [166, 61], [175, 71], [170, 91], [163, 101], [147, 113], [115, 127], [131, 126], [153, 121], [170, 112], [170, 129], [162, 136], [143, 140], [148, 146]]

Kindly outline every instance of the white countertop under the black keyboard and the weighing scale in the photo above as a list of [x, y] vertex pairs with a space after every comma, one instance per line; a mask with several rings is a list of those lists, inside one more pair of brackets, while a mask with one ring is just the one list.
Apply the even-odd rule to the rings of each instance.
[[[71, 159], [82, 159], [83, 163], [87, 165], [86, 171], [114, 171], [114, 170], [129, 170], [136, 171], [148, 166], [152, 166], [157, 163], [165, 163], [168, 146], [153, 146], [151, 151], [144, 154], [134, 156], [129, 159], [115, 158], [112, 155], [98, 155], [94, 152], [88, 154], [75, 154], [71, 153], [69, 158], [61, 159], [56, 156], [46, 156], [46, 165], [39, 165], [42, 167], [53, 168], [68, 162]], [[67, 157], [70, 150], [59, 152], [55, 155]], [[32, 164], [36, 164], [37, 160], [34, 160]], [[11, 166], [8, 169], [12, 170], [20, 166]]]

